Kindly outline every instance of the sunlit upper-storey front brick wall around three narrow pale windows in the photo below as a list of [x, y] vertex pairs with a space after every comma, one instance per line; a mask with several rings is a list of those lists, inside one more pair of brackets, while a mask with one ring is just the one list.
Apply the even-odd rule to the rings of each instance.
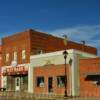
[[[22, 50], [26, 50], [26, 59], [22, 59]], [[28, 31], [16, 33], [2, 39], [3, 66], [11, 65], [13, 53], [17, 52], [17, 63], [29, 63], [30, 61], [30, 34]], [[6, 53], [9, 53], [9, 61], [6, 62]]]

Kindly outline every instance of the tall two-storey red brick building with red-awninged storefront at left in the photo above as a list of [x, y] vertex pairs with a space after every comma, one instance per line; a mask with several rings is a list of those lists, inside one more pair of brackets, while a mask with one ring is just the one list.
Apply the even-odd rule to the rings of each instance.
[[[6, 88], [6, 90], [8, 91], [28, 90], [29, 92], [33, 92], [33, 79], [31, 78], [34, 72], [33, 69], [31, 70], [31, 68], [33, 68], [32, 66], [34, 64], [32, 65], [30, 63], [30, 56], [38, 55], [41, 57], [40, 54], [61, 51], [65, 48], [83, 51], [84, 53], [89, 54], [89, 57], [90, 55], [94, 57], [97, 54], [97, 49], [94, 47], [86, 46], [84, 44], [79, 44], [72, 41], [68, 41], [68, 45], [67, 47], [65, 47], [62, 38], [58, 38], [34, 30], [20, 32], [2, 38], [1, 87]], [[51, 68], [52, 72], [52, 70], [54, 69], [53, 67]], [[57, 70], [63, 71], [64, 69], [63, 67], [59, 66]], [[35, 71], [35, 73], [37, 75], [37, 71]], [[55, 73], [54, 75], [56, 74], [57, 73]], [[50, 80], [52, 80], [52, 78], [50, 78]], [[72, 88], [75, 89], [75, 86], [73, 86]], [[60, 93], [59, 90], [57, 91], [57, 93]], [[62, 91], [64, 90], [62, 89]]]

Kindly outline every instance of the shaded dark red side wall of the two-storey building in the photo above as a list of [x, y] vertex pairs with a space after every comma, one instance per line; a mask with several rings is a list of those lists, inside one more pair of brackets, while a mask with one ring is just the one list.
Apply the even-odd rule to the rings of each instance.
[[76, 49], [91, 54], [97, 54], [97, 49], [91, 46], [83, 45], [81, 43], [76, 43], [68, 41], [67, 46], [65, 47], [63, 39], [55, 37], [50, 34], [43, 32], [37, 32], [34, 30], [29, 31], [31, 34], [31, 53], [34, 54], [35, 50], [40, 48], [44, 52], [53, 52], [67, 49]]

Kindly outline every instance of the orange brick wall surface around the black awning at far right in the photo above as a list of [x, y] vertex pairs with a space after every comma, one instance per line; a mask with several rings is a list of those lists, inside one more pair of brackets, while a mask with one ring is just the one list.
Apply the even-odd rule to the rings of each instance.
[[80, 60], [80, 96], [100, 96], [100, 86], [85, 80], [86, 74], [100, 73], [100, 58]]

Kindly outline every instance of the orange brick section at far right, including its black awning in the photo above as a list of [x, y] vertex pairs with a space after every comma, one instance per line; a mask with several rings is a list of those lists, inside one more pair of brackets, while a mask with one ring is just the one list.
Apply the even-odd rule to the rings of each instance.
[[81, 59], [79, 66], [80, 96], [100, 97], [100, 57]]

